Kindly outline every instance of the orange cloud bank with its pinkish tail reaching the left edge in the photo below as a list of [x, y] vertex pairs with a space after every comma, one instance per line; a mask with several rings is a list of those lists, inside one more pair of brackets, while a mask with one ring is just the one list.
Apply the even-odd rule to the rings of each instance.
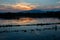
[[22, 3], [17, 3], [17, 4], [2, 4], [2, 8], [0, 7], [0, 10], [6, 10], [6, 11], [11, 11], [11, 10], [20, 10], [20, 11], [24, 11], [24, 10], [32, 10], [32, 9], [36, 9], [39, 5], [37, 4], [31, 4], [31, 3], [26, 3], [26, 2], [22, 2]]

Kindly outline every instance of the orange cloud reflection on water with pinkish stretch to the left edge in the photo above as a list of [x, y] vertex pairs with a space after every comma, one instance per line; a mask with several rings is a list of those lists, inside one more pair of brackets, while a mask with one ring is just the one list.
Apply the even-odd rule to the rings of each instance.
[[26, 25], [35, 24], [37, 20], [34, 18], [20, 18], [19, 20], [0, 20], [0, 25]]

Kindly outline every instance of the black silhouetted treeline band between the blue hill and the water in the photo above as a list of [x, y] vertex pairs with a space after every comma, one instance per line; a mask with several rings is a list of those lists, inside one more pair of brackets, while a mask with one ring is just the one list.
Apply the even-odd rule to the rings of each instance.
[[31, 17], [31, 18], [60, 18], [60, 11], [47, 11], [44, 13], [29, 13], [29, 12], [18, 12], [18, 13], [0, 13], [0, 18], [3, 19], [19, 19], [21, 17]]

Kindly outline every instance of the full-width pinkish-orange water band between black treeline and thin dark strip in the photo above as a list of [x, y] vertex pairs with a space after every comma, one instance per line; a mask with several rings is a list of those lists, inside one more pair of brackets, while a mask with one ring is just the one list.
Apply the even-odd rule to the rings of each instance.
[[57, 18], [20, 18], [19, 20], [4, 20], [0, 19], [0, 25], [26, 25], [38, 23], [59, 23], [60, 19]]

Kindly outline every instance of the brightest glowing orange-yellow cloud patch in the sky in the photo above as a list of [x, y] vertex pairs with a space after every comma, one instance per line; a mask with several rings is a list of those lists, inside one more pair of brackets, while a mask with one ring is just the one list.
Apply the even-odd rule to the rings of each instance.
[[28, 3], [19, 3], [19, 4], [12, 5], [12, 8], [17, 10], [32, 10], [35, 9], [36, 6]]

